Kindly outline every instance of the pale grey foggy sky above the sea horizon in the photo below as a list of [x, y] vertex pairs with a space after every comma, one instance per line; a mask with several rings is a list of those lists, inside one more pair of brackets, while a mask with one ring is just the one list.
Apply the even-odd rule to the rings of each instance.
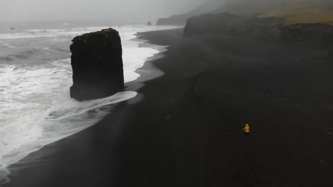
[[184, 13], [205, 1], [216, 0], [0, 0], [0, 21], [145, 22]]

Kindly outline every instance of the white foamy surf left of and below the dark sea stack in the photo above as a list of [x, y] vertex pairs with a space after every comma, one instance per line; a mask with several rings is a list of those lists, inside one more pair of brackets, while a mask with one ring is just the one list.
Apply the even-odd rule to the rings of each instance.
[[68, 64], [63, 69], [1, 69], [0, 79], [4, 81], [0, 87], [4, 97], [0, 100], [3, 106], [0, 108], [0, 181], [9, 181], [6, 166], [45, 145], [89, 128], [109, 113], [112, 104], [137, 95], [134, 91], [125, 91], [107, 98], [75, 101], [68, 95], [71, 84]]

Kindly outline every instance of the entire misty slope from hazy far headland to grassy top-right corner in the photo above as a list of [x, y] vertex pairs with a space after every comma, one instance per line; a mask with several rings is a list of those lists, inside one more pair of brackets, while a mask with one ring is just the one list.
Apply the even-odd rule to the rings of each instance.
[[232, 13], [248, 18], [283, 18], [287, 24], [333, 24], [332, 0], [216, 0], [180, 15], [160, 18], [157, 25], [186, 25], [187, 19], [206, 13]]

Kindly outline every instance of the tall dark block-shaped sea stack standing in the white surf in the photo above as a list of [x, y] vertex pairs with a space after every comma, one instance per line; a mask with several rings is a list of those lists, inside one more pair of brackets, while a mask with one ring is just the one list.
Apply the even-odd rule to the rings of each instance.
[[117, 30], [87, 33], [72, 41], [70, 97], [78, 101], [104, 98], [124, 89], [122, 45]]

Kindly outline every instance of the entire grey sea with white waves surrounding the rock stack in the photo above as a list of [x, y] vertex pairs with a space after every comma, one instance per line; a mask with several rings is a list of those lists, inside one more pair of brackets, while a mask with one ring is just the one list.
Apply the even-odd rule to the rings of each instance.
[[125, 91], [107, 98], [78, 102], [70, 98], [71, 40], [103, 28], [120, 32], [125, 82], [140, 75], [136, 69], [159, 51], [139, 47], [137, 32], [172, 27], [83, 27], [63, 23], [53, 28], [16, 28], [0, 33], [0, 183], [9, 181], [7, 167], [56, 142], [95, 125], [112, 104], [137, 95]]

